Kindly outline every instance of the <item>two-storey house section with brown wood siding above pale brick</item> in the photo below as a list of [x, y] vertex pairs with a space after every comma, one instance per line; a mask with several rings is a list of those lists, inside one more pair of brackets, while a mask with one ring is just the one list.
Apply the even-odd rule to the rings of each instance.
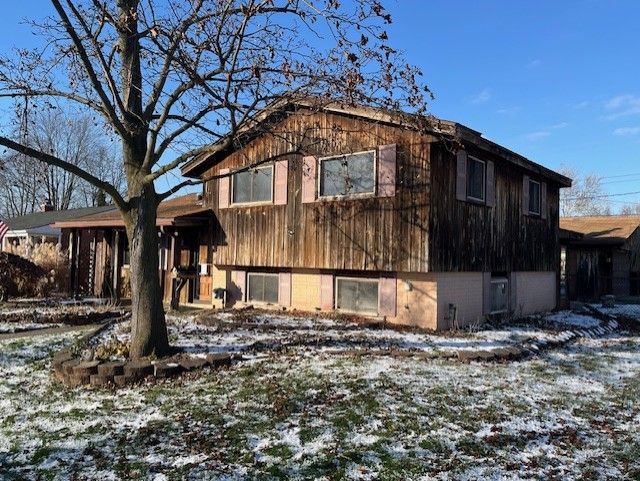
[[458, 123], [297, 102], [182, 174], [205, 182], [228, 306], [446, 329], [557, 305], [570, 179]]

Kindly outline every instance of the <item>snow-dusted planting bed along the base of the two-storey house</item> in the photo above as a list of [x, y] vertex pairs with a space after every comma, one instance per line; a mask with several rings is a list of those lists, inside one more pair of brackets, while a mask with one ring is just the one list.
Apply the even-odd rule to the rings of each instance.
[[[477, 332], [430, 334], [419, 330], [371, 328], [339, 318], [296, 317], [277, 313], [217, 313], [168, 315], [170, 341], [187, 352], [207, 354], [235, 352], [245, 356], [269, 351], [333, 353], [344, 350], [402, 350], [447, 356], [461, 350], [492, 351], [527, 342], [563, 339], [566, 331], [591, 328], [600, 321], [570, 312], [560, 312], [534, 324], [485, 328]], [[128, 342], [129, 323], [105, 331], [95, 345]]]

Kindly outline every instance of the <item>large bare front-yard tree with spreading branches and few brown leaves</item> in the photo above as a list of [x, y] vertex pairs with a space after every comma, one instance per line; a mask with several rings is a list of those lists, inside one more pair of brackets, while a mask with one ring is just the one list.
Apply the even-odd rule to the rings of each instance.
[[227, 149], [276, 99], [314, 95], [425, 111], [421, 73], [388, 44], [378, 0], [51, 0], [47, 48], [0, 64], [0, 95], [73, 102], [118, 137], [126, 195], [67, 159], [9, 136], [0, 145], [61, 167], [118, 206], [131, 254], [133, 358], [169, 344], [154, 182], [194, 156]]

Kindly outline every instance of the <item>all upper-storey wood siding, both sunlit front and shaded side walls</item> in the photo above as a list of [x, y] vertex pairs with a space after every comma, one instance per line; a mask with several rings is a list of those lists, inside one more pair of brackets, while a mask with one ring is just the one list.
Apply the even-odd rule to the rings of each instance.
[[[397, 191], [388, 198], [302, 202], [303, 155], [397, 144]], [[292, 115], [204, 174], [289, 155], [288, 202], [218, 208], [218, 181], [205, 184], [217, 217], [221, 266], [395, 272], [552, 271], [559, 262], [559, 186], [548, 183], [547, 219], [522, 214], [527, 172], [495, 155], [495, 208], [456, 200], [456, 158], [433, 136], [347, 116]], [[547, 181], [527, 174], [534, 180]], [[547, 181], [548, 182], [548, 181]]]

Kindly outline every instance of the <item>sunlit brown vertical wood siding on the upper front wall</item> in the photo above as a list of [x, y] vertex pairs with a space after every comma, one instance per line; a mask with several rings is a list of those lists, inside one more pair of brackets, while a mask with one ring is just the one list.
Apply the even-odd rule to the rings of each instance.
[[[287, 205], [218, 209], [217, 182], [205, 188], [219, 222], [218, 265], [426, 272], [429, 218], [429, 145], [417, 132], [341, 115], [298, 114], [204, 174], [289, 155]], [[286, 138], [287, 140], [283, 139]], [[394, 197], [302, 203], [302, 157], [398, 145]]]

